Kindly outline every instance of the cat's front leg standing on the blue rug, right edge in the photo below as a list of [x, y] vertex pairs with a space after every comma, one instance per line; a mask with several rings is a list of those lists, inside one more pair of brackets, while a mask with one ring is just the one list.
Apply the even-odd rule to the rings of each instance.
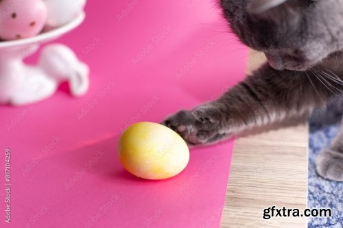
[[343, 181], [343, 125], [331, 146], [316, 158], [317, 173], [333, 181]]

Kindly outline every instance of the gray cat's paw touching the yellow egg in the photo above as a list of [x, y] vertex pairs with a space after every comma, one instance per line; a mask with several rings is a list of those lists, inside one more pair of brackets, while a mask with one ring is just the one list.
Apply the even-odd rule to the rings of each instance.
[[189, 145], [211, 144], [230, 136], [222, 118], [215, 107], [202, 105], [169, 116], [162, 124], [176, 131]]

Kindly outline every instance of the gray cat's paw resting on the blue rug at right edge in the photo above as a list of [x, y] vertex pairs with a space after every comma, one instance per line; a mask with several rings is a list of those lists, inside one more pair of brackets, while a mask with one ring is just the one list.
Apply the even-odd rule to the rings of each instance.
[[343, 153], [326, 149], [316, 159], [317, 173], [332, 181], [343, 181]]

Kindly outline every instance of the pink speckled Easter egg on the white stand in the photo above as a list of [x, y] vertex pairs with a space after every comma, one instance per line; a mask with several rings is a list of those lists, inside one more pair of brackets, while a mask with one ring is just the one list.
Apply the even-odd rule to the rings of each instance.
[[16, 40], [36, 36], [47, 20], [47, 6], [43, 0], [1, 0], [0, 38]]

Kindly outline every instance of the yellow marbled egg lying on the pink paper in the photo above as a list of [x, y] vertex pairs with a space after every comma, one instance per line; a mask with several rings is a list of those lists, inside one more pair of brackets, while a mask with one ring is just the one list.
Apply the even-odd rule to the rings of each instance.
[[119, 160], [137, 177], [167, 179], [186, 168], [189, 149], [186, 142], [168, 127], [141, 122], [128, 127], [121, 136]]

